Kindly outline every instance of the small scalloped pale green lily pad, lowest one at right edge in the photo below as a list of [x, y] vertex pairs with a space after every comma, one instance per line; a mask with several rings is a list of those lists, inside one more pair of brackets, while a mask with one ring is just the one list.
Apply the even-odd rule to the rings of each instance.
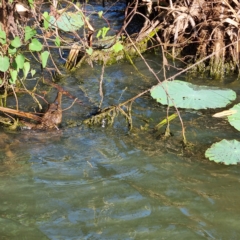
[[240, 142], [223, 139], [208, 148], [205, 157], [216, 163], [237, 164], [240, 162]]

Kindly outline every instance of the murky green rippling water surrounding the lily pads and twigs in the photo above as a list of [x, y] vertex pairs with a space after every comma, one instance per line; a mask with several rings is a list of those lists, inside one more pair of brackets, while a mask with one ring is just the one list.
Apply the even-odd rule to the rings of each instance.
[[[146, 58], [161, 69], [160, 57]], [[148, 78], [128, 63], [105, 68], [104, 107], [156, 84], [142, 61], [136, 66]], [[59, 83], [83, 101], [64, 112], [60, 131], [0, 129], [0, 240], [240, 239], [240, 167], [204, 158], [213, 142], [239, 133], [211, 112], [181, 111], [195, 144], [194, 154], [182, 152], [178, 120], [169, 140], [152, 132], [166, 107], [147, 96], [133, 104], [132, 133], [121, 116], [113, 127], [84, 126], [100, 101], [101, 71], [84, 66]], [[239, 94], [237, 81], [217, 85]], [[71, 103], [63, 97], [63, 108]]]

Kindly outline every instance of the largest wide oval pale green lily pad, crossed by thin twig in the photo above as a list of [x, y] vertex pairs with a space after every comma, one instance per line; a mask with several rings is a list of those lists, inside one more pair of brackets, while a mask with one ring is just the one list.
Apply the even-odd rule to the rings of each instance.
[[231, 89], [197, 86], [179, 80], [164, 81], [152, 87], [151, 96], [164, 105], [174, 106], [175, 104], [179, 108], [196, 110], [225, 107], [236, 99], [236, 93]]

